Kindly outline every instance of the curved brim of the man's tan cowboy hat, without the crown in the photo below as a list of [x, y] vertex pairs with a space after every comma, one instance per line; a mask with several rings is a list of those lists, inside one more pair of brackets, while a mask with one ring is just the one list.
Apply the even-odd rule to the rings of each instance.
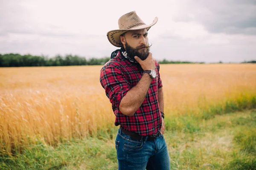
[[116, 47], [122, 47], [122, 42], [120, 40], [120, 35], [127, 32], [127, 31], [131, 31], [131, 30], [140, 30], [140, 29], [147, 29], [147, 31], [151, 28], [151, 26], [154, 26], [158, 21], [158, 17], [155, 17], [153, 22], [150, 25], [140, 25], [140, 26], [136, 26], [130, 29], [116, 29], [116, 30], [112, 30], [112, 31], [108, 31], [107, 33], [107, 37], [109, 42], [116, 46]]

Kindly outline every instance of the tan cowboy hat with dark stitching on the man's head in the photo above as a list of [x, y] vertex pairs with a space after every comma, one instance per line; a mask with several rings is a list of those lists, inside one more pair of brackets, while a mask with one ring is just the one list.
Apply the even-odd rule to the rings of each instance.
[[143, 20], [141, 20], [140, 17], [136, 14], [136, 11], [131, 11], [119, 18], [119, 29], [108, 31], [108, 40], [112, 45], [116, 47], [122, 47], [122, 42], [120, 40], [121, 34], [130, 30], [140, 30], [144, 28], [147, 28], [148, 31], [151, 26], [154, 26], [157, 23], [157, 20], [158, 18], [155, 17], [150, 25], [146, 25]]

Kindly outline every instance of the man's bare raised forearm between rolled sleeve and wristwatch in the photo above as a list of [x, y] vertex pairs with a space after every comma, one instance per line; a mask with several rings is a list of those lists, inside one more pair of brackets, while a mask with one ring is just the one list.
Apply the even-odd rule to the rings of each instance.
[[122, 98], [119, 110], [127, 116], [133, 116], [134, 113], [142, 105], [145, 96], [148, 93], [149, 85], [151, 84], [151, 77], [149, 74], [143, 74], [138, 84], [131, 88], [127, 94]]

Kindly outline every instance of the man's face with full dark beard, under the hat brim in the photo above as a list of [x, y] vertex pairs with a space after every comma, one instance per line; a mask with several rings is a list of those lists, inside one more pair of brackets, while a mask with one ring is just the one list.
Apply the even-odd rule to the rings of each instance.
[[146, 28], [128, 31], [120, 39], [129, 57], [134, 59], [135, 56], [138, 56], [142, 60], [148, 57], [150, 47], [148, 46], [148, 32]]

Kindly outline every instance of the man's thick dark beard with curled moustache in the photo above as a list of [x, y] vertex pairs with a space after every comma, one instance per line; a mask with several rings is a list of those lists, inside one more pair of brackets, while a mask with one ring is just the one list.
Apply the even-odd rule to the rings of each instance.
[[[145, 48], [145, 49], [142, 49]], [[139, 52], [139, 50], [141, 52]], [[148, 57], [150, 47], [146, 44], [137, 46], [136, 48], [131, 47], [127, 42], [125, 44], [125, 51], [127, 56], [134, 59], [135, 56], [139, 57], [141, 60], [145, 60]]]

